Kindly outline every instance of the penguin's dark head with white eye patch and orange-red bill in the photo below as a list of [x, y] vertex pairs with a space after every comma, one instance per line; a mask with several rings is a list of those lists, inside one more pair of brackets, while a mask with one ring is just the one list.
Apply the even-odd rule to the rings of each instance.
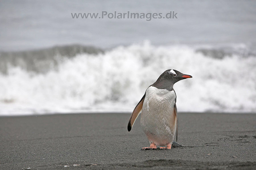
[[192, 78], [192, 76], [170, 69], [163, 72], [152, 86], [172, 90], [174, 83], [186, 78]]

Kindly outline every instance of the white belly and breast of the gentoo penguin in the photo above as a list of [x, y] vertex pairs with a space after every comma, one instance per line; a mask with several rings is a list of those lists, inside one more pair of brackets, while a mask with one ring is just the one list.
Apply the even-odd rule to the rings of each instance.
[[172, 143], [176, 132], [174, 90], [150, 86], [142, 106], [140, 123], [150, 143], [166, 146]]

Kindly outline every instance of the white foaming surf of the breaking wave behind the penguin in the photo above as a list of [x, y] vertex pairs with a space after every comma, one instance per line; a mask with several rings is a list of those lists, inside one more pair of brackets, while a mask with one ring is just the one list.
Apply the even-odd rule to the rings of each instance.
[[165, 70], [193, 78], [174, 85], [178, 111], [256, 112], [256, 57], [206, 57], [187, 45], [146, 42], [66, 59], [46, 74], [0, 74], [0, 115], [129, 111]]

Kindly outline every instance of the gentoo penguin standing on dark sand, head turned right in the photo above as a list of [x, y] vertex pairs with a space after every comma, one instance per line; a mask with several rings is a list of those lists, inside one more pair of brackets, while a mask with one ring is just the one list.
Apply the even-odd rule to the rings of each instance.
[[157, 146], [161, 146], [160, 149], [171, 149], [175, 132], [176, 141], [178, 140], [178, 115], [173, 85], [185, 78], [192, 76], [177, 70], [166, 70], [147, 88], [133, 110], [128, 122], [128, 131], [131, 131], [141, 111], [140, 123], [150, 142], [150, 147], [144, 147], [142, 150], [157, 149]]

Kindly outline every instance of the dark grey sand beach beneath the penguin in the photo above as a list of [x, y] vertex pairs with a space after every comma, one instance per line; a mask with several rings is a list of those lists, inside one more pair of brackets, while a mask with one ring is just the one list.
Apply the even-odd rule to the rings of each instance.
[[256, 169], [256, 114], [179, 113], [184, 147], [171, 150], [140, 150], [149, 143], [129, 117], [0, 117], [0, 169]]

